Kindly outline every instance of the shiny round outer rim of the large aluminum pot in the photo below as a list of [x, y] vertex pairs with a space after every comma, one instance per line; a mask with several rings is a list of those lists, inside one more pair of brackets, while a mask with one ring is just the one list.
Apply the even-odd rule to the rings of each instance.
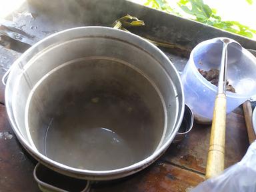
[[[71, 29], [66, 29], [64, 31], [60, 31], [57, 33], [54, 33], [53, 35], [49, 35], [48, 37], [46, 37], [45, 39], [42, 39], [41, 41], [35, 43], [35, 45], [33, 45], [32, 47], [30, 47], [29, 49], [27, 49], [27, 51], [25, 51], [25, 53], [23, 53], [23, 55], [21, 55], [21, 57], [19, 57], [19, 59], [17, 59], [13, 65], [19, 65], [19, 63], [27, 56], [30, 54], [30, 52], [33, 49], [36, 49], [37, 47], [39, 47], [39, 45], [41, 45], [41, 43], [45, 42], [45, 41], [49, 41], [49, 39], [51, 39], [52, 37], [55, 37], [61, 33], [66, 33], [66, 32], [70, 32], [73, 30], [86, 30], [86, 29], [93, 29], [93, 30], [103, 30], [103, 31], [115, 31], [115, 33], [123, 33], [123, 35], [126, 35], [128, 37], [129, 35], [129, 43], [131, 43], [132, 45], [136, 46], [136, 47], [142, 47], [143, 51], [146, 51], [147, 53], [149, 53], [149, 49], [153, 49], [156, 51], [157, 55], [157, 61], [159, 61], [159, 57], [161, 59], [165, 59], [169, 65], [169, 67], [173, 68], [174, 73], [176, 73], [177, 79], [179, 80], [179, 84], [181, 85], [181, 78], [179, 77], [179, 73], [178, 71], [175, 69], [173, 63], [171, 63], [171, 61], [169, 61], [169, 58], [155, 45], [153, 45], [152, 43], [150, 43], [149, 41], [146, 41], [145, 39], [139, 37], [138, 35], [135, 35], [133, 33], [129, 33], [126, 31], [121, 31], [119, 29], [113, 29], [110, 27], [99, 27], [99, 26], [90, 26], [90, 27], [75, 27], [75, 28], [71, 28]], [[106, 36], [107, 37], [107, 36]], [[146, 48], [145, 45], [147, 45], [148, 47]], [[159, 62], [160, 63], [160, 62]], [[164, 67], [163, 67], [164, 69]], [[9, 78], [7, 79], [7, 84], [6, 84], [6, 88], [5, 90], [9, 89], [9, 84], [11, 81], [11, 77], [13, 76], [12, 74], [13, 70], [11, 70], [10, 74], [9, 74]], [[174, 84], [174, 83], [173, 83]], [[12, 109], [11, 109], [11, 103], [6, 102], [6, 109], [7, 109], [7, 114], [8, 114], [8, 118], [9, 118], [9, 122], [11, 123], [11, 126], [13, 127], [13, 131], [15, 132], [15, 135], [17, 135], [20, 143], [23, 145], [23, 147], [25, 147], [25, 149], [33, 156], [35, 157], [35, 159], [39, 160], [39, 161], [43, 161], [41, 163], [43, 163], [44, 165], [47, 165], [47, 167], [51, 167], [51, 169], [57, 169], [56, 171], [63, 173], [65, 175], [72, 175], [72, 177], [77, 177], [77, 178], [89, 178], [89, 179], [95, 179], [95, 180], [105, 180], [105, 179], [117, 179], [119, 177], [125, 177], [127, 175], [131, 175], [137, 171], [140, 171], [141, 169], [147, 167], [148, 165], [150, 165], [151, 163], [153, 163], [160, 155], [162, 155], [165, 150], [167, 149], [167, 147], [171, 144], [171, 142], [173, 141], [180, 125], [181, 125], [181, 121], [183, 119], [183, 113], [184, 113], [184, 107], [185, 107], [185, 103], [184, 103], [184, 92], [183, 92], [183, 87], [181, 85], [181, 94], [178, 95], [178, 97], [181, 97], [181, 114], [180, 116], [178, 116], [178, 118], [176, 119], [176, 123], [173, 129], [173, 132], [171, 133], [171, 136], [169, 137], [169, 139], [159, 148], [157, 149], [155, 152], [153, 152], [149, 157], [143, 159], [142, 161], [139, 161], [137, 163], [134, 163], [133, 165], [129, 165], [127, 167], [122, 167], [120, 169], [113, 169], [113, 170], [107, 170], [107, 171], [93, 171], [93, 170], [87, 170], [87, 169], [77, 169], [74, 167], [69, 167], [67, 165], [64, 165], [62, 163], [59, 163], [57, 161], [53, 161], [52, 159], [50, 159], [49, 157], [46, 157], [45, 155], [39, 153], [39, 151], [35, 150], [23, 137], [22, 133], [19, 131], [16, 123], [15, 123], [15, 119], [12, 118]], [[8, 101], [8, 98], [11, 97], [11, 95], [9, 95], [9, 91], [5, 91], [5, 101]], [[179, 112], [178, 112], [179, 115]], [[66, 173], [65, 171], [69, 171], [69, 173]], [[71, 174], [70, 174], [71, 173]]]

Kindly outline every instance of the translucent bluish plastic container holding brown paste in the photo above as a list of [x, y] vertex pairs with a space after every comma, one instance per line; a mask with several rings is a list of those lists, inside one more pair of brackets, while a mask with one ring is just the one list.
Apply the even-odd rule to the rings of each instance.
[[[207, 81], [198, 69], [219, 69], [223, 43], [219, 38], [199, 43], [191, 52], [181, 75], [185, 103], [193, 111], [195, 121], [211, 123], [217, 87]], [[227, 113], [230, 113], [256, 92], [256, 58], [243, 47], [228, 47], [227, 81], [236, 93], [227, 91]]]

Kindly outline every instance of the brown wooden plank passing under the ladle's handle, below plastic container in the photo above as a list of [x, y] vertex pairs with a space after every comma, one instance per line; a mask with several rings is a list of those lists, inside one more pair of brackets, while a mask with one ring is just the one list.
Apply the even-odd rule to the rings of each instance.
[[[191, 133], [179, 144], [172, 144], [162, 157], [165, 161], [205, 173], [211, 125], [195, 124]], [[243, 115], [227, 115], [225, 167], [240, 161], [249, 146]]]

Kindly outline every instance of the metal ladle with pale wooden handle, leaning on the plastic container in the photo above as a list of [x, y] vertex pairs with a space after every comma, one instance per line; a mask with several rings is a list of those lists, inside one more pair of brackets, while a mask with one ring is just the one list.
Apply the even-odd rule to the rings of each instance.
[[213, 110], [213, 121], [211, 125], [211, 138], [207, 157], [205, 177], [213, 177], [224, 169], [225, 157], [225, 129], [226, 129], [226, 81], [227, 81], [227, 47], [237, 41], [221, 38], [223, 49], [221, 55], [221, 67], [219, 71], [219, 82], [215, 106]]

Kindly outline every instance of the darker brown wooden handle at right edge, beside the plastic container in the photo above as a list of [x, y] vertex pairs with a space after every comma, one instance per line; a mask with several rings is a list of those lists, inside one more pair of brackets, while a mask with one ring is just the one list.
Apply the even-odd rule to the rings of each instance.
[[253, 130], [253, 122], [251, 120], [253, 115], [253, 110], [251, 109], [251, 102], [250, 101], [245, 101], [243, 103], [243, 116], [245, 117], [245, 125], [247, 128], [247, 134], [249, 138], [249, 143], [253, 143], [255, 141], [256, 136]]

